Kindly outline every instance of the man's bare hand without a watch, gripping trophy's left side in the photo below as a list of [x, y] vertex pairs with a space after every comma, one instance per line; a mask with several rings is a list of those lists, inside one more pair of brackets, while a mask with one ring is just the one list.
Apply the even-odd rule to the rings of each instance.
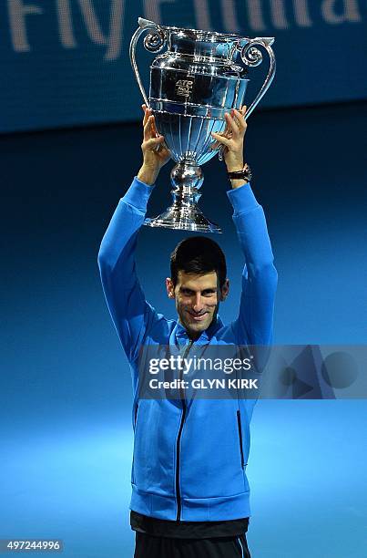
[[138, 171], [138, 180], [146, 184], [154, 184], [158, 172], [170, 159], [170, 152], [164, 144], [164, 136], [158, 134], [156, 122], [151, 109], [142, 105], [144, 110], [144, 139], [141, 144], [143, 164]]

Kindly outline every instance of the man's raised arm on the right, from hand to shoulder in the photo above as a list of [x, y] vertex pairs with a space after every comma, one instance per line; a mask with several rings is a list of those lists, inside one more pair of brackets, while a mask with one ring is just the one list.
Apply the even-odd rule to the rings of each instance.
[[[227, 171], [244, 168], [243, 140], [247, 123], [246, 107], [226, 115], [227, 128], [213, 137], [224, 147]], [[240, 313], [233, 322], [239, 344], [269, 345], [272, 340], [274, 299], [278, 274], [273, 263], [265, 215], [246, 178], [231, 180], [228, 192], [233, 221], [245, 258], [242, 272]]]

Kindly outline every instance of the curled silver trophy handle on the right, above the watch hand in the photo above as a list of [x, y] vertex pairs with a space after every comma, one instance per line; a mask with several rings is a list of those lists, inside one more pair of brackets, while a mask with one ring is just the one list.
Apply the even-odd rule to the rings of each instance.
[[262, 84], [262, 87], [260, 88], [258, 95], [256, 96], [256, 98], [254, 98], [249, 109], [247, 109], [246, 111], [246, 119], [248, 119], [248, 117], [250, 117], [251, 112], [258, 106], [261, 98], [264, 97], [265, 93], [270, 88], [270, 84], [275, 76], [276, 63], [275, 63], [274, 52], [271, 48], [271, 45], [275, 40], [273, 36], [265, 36], [265, 37], [257, 36], [253, 39], [245, 39], [245, 40], [246, 40], [245, 45], [241, 46], [239, 44], [237, 48], [238, 50], [240, 50], [240, 56], [242, 58], [242, 61], [246, 64], [246, 66], [255, 67], [261, 64], [262, 54], [259, 48], [257, 48], [257, 46], [264, 47], [270, 57], [270, 68], [269, 68], [268, 75], [265, 78], [265, 81]]

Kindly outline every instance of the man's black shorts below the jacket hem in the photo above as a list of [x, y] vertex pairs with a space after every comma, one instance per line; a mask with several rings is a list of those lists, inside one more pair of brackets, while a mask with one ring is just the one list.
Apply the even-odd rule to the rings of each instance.
[[246, 535], [174, 539], [135, 533], [134, 558], [250, 558]]

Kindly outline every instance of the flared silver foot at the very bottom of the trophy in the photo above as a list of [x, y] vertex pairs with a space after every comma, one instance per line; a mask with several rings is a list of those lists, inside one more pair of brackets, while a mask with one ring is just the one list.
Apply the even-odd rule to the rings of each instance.
[[144, 223], [148, 227], [161, 227], [164, 229], [174, 229], [178, 231], [193, 231], [198, 233], [222, 233], [219, 225], [209, 221], [197, 205], [181, 210], [174, 207], [168, 208], [158, 217], [147, 218]]

